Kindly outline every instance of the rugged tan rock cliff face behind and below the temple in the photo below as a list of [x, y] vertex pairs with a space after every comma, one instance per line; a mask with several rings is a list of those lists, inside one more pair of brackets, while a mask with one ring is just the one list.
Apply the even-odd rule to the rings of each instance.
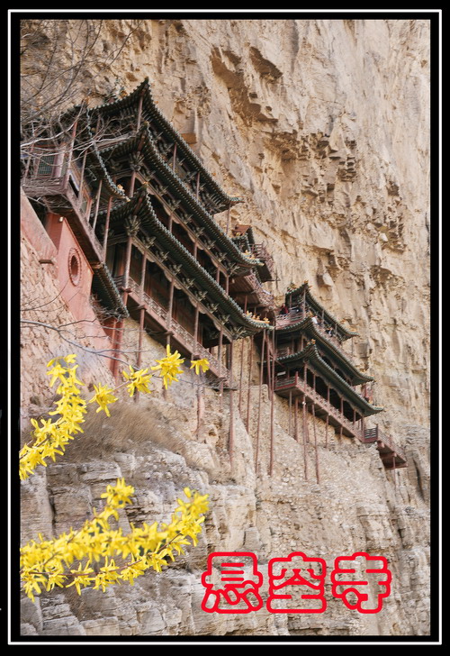
[[[105, 21], [98, 53], [129, 27]], [[198, 487], [211, 495], [199, 547], [133, 588], [86, 589], [81, 597], [70, 588], [44, 594], [34, 606], [25, 599], [23, 633], [426, 634], [428, 22], [148, 20], [132, 27], [111, 68], [85, 70], [92, 104], [114, 77], [127, 91], [150, 78], [162, 112], [226, 191], [245, 199], [232, 209], [232, 222], [251, 223], [257, 241], [266, 241], [277, 270], [266, 287], [276, 300], [291, 281], [308, 279], [314, 296], [359, 333], [352, 359], [376, 379], [374, 400], [386, 408], [376, 419], [405, 447], [409, 468], [386, 472], [374, 447], [338, 435], [326, 442], [325, 424], [310, 417], [318, 458], [311, 440], [305, 472], [287, 404], [275, 397], [275, 469], [267, 477], [266, 387], [256, 468], [256, 417], [248, 431], [243, 419], [248, 381], [257, 408], [257, 353], [247, 377], [249, 345], [241, 351], [238, 342], [235, 375], [242, 356], [246, 374], [242, 417], [235, 394], [232, 467], [228, 393], [220, 412], [217, 393], [206, 391], [197, 435], [196, 401], [186, 383], [168, 399], [156, 394], [138, 406], [118, 406], [113, 429], [91, 418], [67, 458], [23, 484], [23, 542], [84, 521], [118, 476], [136, 487], [123, 525], [166, 518], [185, 485]], [[217, 220], [225, 225], [224, 215]], [[29, 288], [41, 267], [26, 245]], [[55, 353], [35, 335], [24, 355], [44, 369]], [[149, 357], [160, 352], [149, 338], [147, 348]], [[91, 372], [92, 361], [86, 364]], [[36, 403], [45, 379], [28, 371], [25, 406]], [[330, 568], [335, 557], [354, 551], [384, 555], [392, 595], [376, 615], [351, 612], [332, 597], [322, 615], [206, 614], [200, 608], [206, 555], [234, 550], [254, 551], [263, 572], [271, 557], [291, 551], [324, 558]]]

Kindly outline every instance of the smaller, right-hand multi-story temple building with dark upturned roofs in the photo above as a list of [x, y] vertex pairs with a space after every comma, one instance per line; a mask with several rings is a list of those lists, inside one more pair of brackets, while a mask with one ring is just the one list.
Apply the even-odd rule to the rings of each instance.
[[[299, 400], [303, 414], [326, 422], [340, 437], [357, 438], [361, 442], [377, 442], [386, 469], [406, 466], [400, 447], [378, 431], [366, 428], [365, 419], [383, 411], [374, 405], [374, 378], [356, 369], [344, 350], [344, 343], [355, 337], [338, 319], [320, 305], [305, 281], [291, 288], [276, 319], [274, 389], [279, 396], [294, 403]], [[308, 435], [305, 436], [308, 439]]]

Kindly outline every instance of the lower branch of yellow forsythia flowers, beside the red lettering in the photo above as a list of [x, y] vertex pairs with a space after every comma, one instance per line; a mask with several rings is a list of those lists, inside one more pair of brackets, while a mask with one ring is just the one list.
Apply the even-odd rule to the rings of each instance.
[[[170, 524], [131, 524], [131, 532], [124, 535], [121, 528], [112, 529], [109, 520], [119, 519], [118, 509], [130, 504], [133, 493], [134, 488], [118, 478], [116, 485], [106, 487], [102, 495], [106, 499], [103, 511], [94, 513], [82, 529], [74, 532], [71, 528], [53, 540], [45, 540], [40, 534], [39, 542], [31, 540], [21, 549], [21, 579], [31, 601], [41, 588], [49, 591], [55, 586], [75, 586], [81, 595], [81, 588], [101, 588], [104, 592], [123, 581], [133, 585], [134, 579], [148, 569], [162, 571], [168, 564], [166, 559], [175, 560], [174, 551], [184, 553], [184, 545], [197, 544], [203, 514], [208, 510], [208, 495], [184, 487], [187, 501], [177, 499]], [[76, 569], [74, 560], [78, 562]], [[92, 567], [94, 561], [101, 563], [97, 571]]]

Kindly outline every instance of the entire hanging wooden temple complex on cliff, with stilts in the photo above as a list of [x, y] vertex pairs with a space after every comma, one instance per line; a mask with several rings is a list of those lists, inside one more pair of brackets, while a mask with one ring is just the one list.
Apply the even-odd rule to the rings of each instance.
[[[130, 94], [103, 105], [74, 107], [61, 123], [65, 139], [42, 139], [23, 159], [23, 190], [58, 245], [58, 276], [69, 309], [82, 318], [94, 308], [117, 355], [111, 360], [114, 376], [127, 317], [139, 325], [136, 366], [145, 365], [141, 350], [146, 333], [186, 357], [206, 358], [211, 387], [229, 388], [231, 452], [234, 390], [242, 416], [247, 407], [249, 429], [256, 344], [261, 362], [256, 460], [266, 381], [270, 473], [274, 394], [288, 399], [290, 424], [294, 411], [296, 439], [301, 403], [304, 426], [310, 412], [325, 421], [327, 434], [333, 429], [341, 436], [376, 442], [386, 469], [406, 466], [404, 453], [391, 438], [366, 427], [366, 418], [383, 408], [371, 403], [367, 384], [373, 378], [357, 370], [344, 351], [344, 342], [356, 333], [320, 305], [307, 283], [286, 294], [286, 314], [275, 309], [274, 296], [263, 287], [275, 280], [266, 244], [256, 241], [250, 225], [230, 226], [230, 208], [240, 199], [225, 193], [166, 120], [148, 78]], [[225, 212], [222, 228], [214, 216]], [[79, 298], [74, 301], [81, 287], [85, 306]], [[245, 337], [250, 343], [244, 377]], [[237, 340], [241, 368], [236, 380], [231, 369]], [[310, 441], [307, 431], [303, 439]]]

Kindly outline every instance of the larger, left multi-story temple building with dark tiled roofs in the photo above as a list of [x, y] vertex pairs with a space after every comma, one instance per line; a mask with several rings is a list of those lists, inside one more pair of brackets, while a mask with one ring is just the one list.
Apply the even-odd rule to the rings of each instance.
[[[49, 201], [50, 211], [39, 214], [52, 238], [58, 223], [68, 223], [68, 280], [81, 284], [85, 260], [115, 351], [130, 315], [139, 323], [139, 352], [146, 331], [184, 355], [207, 358], [212, 374], [230, 384], [224, 345], [270, 330], [273, 308], [261, 284], [273, 276], [269, 254], [228, 236], [239, 198], [222, 190], [166, 121], [147, 78], [128, 96], [75, 107], [63, 123], [70, 141], [35, 147], [23, 187]], [[213, 217], [224, 211], [226, 231]], [[264, 318], [249, 311], [258, 307]]]

